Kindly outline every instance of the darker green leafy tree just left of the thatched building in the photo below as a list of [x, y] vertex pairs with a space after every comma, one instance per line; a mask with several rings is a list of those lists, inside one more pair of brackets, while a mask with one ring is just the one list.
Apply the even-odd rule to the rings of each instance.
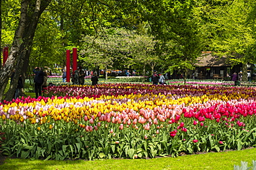
[[147, 1], [143, 5], [143, 19], [149, 21], [150, 33], [158, 40], [156, 50], [161, 64], [167, 67], [166, 72], [179, 70], [186, 78], [201, 54], [196, 1]]

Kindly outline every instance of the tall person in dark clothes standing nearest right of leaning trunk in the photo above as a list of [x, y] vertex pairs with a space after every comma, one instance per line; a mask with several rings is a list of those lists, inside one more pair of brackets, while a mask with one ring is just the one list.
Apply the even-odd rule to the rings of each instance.
[[44, 83], [44, 72], [42, 71], [42, 68], [35, 67], [33, 70], [35, 73], [35, 98], [38, 98], [38, 96], [42, 96], [42, 84]]

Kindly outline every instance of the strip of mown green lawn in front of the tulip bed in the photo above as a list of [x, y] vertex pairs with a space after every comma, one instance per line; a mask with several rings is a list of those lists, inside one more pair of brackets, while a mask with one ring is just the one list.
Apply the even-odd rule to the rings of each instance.
[[18, 158], [6, 158], [0, 169], [77, 169], [77, 170], [104, 170], [104, 169], [234, 169], [234, 165], [241, 165], [241, 161], [256, 160], [256, 148], [242, 151], [225, 151], [219, 153], [204, 153], [196, 155], [179, 156], [176, 158], [154, 159], [111, 159], [111, 160], [22, 160]]

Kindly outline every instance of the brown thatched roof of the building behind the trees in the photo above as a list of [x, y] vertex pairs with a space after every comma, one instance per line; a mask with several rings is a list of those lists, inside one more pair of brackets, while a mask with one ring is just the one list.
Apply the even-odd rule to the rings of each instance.
[[226, 56], [214, 56], [211, 52], [202, 52], [203, 54], [197, 59], [196, 67], [229, 67], [226, 63]]

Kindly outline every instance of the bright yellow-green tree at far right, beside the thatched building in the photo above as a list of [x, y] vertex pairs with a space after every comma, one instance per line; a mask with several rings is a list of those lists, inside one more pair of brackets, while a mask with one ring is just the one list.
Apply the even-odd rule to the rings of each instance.
[[[217, 1], [214, 1], [217, 3]], [[208, 8], [208, 22], [204, 25], [210, 32], [211, 51], [219, 56], [228, 56], [232, 66], [242, 63], [243, 78], [247, 81], [247, 65], [255, 61], [253, 44], [255, 34], [247, 18], [254, 1], [222, 1]]]

